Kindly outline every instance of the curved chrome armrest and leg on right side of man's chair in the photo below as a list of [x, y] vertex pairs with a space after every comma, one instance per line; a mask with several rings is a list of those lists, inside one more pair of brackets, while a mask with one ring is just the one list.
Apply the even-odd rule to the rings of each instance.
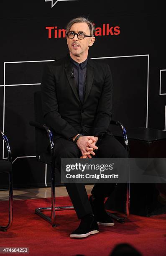
[[[126, 134], [126, 129], [124, 127], [124, 125], [122, 123], [120, 123], [119, 121], [114, 121], [111, 120], [110, 124], [112, 125], [117, 125], [120, 127], [121, 131], [123, 132], [123, 138], [124, 138], [124, 142], [125, 142], [125, 148], [127, 151], [129, 151], [129, 147], [128, 147], [128, 137]], [[116, 184], [117, 185], [117, 184]], [[115, 215], [114, 213], [110, 213], [107, 212], [113, 219], [117, 220], [120, 223], [124, 223], [125, 220], [128, 219], [129, 215], [130, 215], [130, 184], [126, 183], [125, 186], [125, 194], [126, 194], [126, 200], [125, 200], [125, 216], [124, 217], [119, 217], [117, 215]]]

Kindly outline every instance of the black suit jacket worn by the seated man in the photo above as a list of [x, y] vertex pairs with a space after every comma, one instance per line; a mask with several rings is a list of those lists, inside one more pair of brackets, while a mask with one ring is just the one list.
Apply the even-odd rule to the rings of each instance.
[[112, 77], [107, 64], [88, 59], [84, 102], [71, 77], [69, 55], [44, 67], [41, 82], [44, 120], [55, 138], [71, 138], [82, 128], [90, 136], [110, 134]]

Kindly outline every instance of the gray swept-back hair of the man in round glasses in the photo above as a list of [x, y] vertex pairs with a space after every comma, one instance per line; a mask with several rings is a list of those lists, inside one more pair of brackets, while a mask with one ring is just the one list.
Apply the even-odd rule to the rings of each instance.
[[73, 26], [74, 23], [87, 23], [89, 30], [90, 30], [90, 36], [94, 36], [95, 28], [94, 28], [94, 23], [92, 21], [84, 18], [84, 17], [78, 17], [74, 18], [69, 21], [69, 23], [66, 26], [66, 35], [70, 31], [70, 28]]

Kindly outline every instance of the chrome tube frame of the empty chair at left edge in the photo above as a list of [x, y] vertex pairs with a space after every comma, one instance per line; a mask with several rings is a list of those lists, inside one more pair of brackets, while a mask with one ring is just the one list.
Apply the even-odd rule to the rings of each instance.
[[[8, 161], [12, 164], [12, 157], [11, 157], [11, 150], [8, 138], [5, 136], [3, 131], [0, 130], [0, 134], [3, 137], [3, 140], [5, 141], [7, 150], [8, 150]], [[4, 160], [5, 161], [5, 160]], [[1, 172], [6, 173], [6, 172]], [[8, 224], [6, 226], [0, 226], [1, 231], [6, 231], [8, 228], [11, 227], [13, 222], [13, 172], [9, 171], [9, 210], [8, 210]]]

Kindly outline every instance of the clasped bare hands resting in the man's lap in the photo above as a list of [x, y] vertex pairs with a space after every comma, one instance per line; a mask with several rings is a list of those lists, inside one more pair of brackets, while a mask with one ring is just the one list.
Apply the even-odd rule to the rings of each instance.
[[79, 147], [82, 156], [80, 158], [92, 158], [91, 154], [94, 156], [94, 149], [98, 149], [96, 146], [98, 137], [94, 136], [81, 136], [77, 140], [77, 146]]

